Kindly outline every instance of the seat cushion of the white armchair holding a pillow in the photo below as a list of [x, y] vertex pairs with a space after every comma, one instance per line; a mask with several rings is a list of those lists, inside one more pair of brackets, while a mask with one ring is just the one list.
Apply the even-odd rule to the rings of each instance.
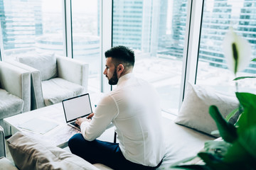
[[84, 87], [61, 78], [42, 81], [43, 100], [46, 106], [59, 103], [63, 99], [84, 93]]

